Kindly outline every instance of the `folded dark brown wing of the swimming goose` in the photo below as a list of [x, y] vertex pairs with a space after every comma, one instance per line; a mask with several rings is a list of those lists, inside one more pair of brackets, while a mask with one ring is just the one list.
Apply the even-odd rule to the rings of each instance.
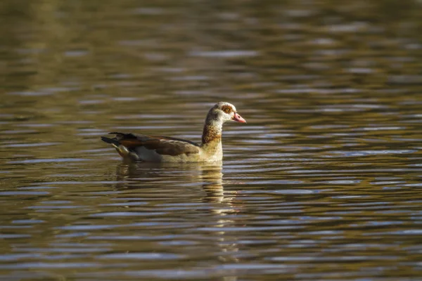
[[199, 145], [181, 138], [170, 138], [167, 136], [135, 135], [133, 133], [113, 132], [113, 138], [121, 145], [129, 149], [144, 147], [148, 150], [155, 150], [160, 155], [182, 155], [196, 154], [199, 152]]

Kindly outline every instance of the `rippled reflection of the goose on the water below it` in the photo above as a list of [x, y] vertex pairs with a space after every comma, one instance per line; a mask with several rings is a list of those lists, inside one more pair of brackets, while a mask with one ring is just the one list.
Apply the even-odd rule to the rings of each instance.
[[[197, 218], [191, 218], [188, 215], [184, 220], [191, 220], [189, 222], [196, 224], [192, 226], [194, 233], [201, 228], [201, 232], [205, 230], [207, 233], [203, 235], [210, 235], [209, 242], [214, 241], [219, 249], [220, 254], [217, 254], [216, 257], [220, 262], [238, 263], [236, 258], [237, 238], [226, 233], [224, 228], [234, 227], [231, 216], [238, 213], [239, 208], [232, 204], [236, 197], [236, 191], [224, 191], [222, 162], [120, 164], [117, 166], [117, 181], [119, 181], [117, 189], [141, 191], [142, 188], [148, 188], [148, 190], [154, 188], [154, 190], [158, 190], [157, 192], [161, 192], [160, 197], [163, 200], [167, 200], [170, 194], [172, 197], [168, 200], [180, 198], [182, 204], [198, 202], [198, 198], [200, 198], [206, 207], [196, 209]], [[125, 192], [124, 196], [127, 195]], [[138, 192], [137, 195], [140, 193]], [[146, 196], [149, 196], [148, 192]], [[236, 274], [230, 274], [229, 277], [224, 277], [222, 280], [237, 280], [237, 277], [233, 275]]]

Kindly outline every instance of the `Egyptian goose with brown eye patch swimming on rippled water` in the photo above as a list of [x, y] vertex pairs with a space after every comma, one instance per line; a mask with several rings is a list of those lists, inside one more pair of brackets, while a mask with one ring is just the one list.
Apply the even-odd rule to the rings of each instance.
[[200, 145], [168, 136], [118, 133], [115, 138], [101, 137], [111, 143], [124, 159], [143, 162], [214, 162], [223, 158], [222, 130], [226, 121], [246, 123], [230, 103], [217, 103], [205, 119]]

